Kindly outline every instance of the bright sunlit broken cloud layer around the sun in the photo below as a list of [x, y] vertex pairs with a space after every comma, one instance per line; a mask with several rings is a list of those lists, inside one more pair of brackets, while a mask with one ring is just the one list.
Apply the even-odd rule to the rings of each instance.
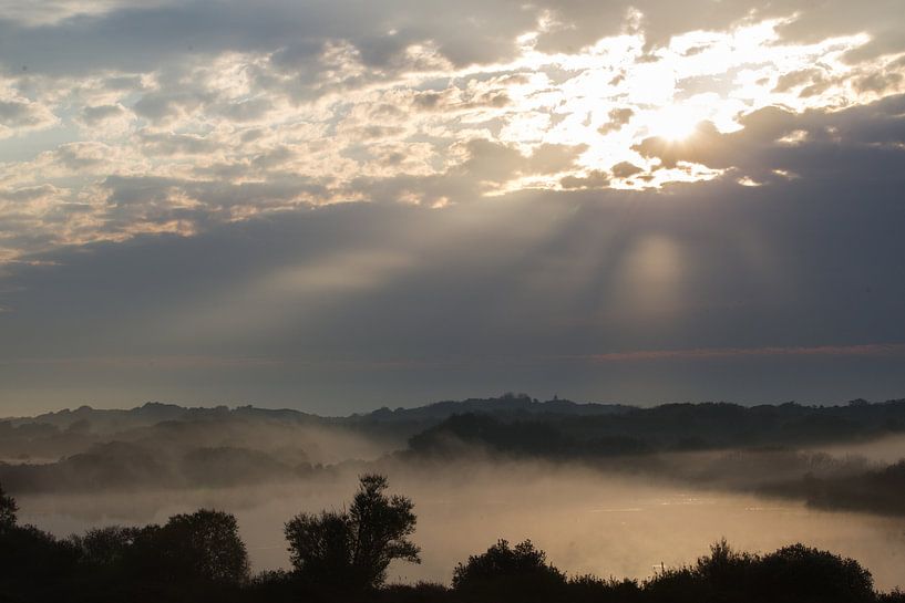
[[[64, 12], [53, 2], [2, 7], [22, 31], [48, 35], [168, 14], [164, 3], [119, 1], [65, 3]], [[498, 34], [495, 56], [491, 44], [471, 60], [455, 40], [413, 35], [413, 24], [387, 27], [379, 39], [332, 32], [305, 49], [199, 37], [204, 48], [182, 49], [179, 60], [155, 46], [156, 64], [104, 58], [78, 76], [8, 63], [0, 261], [341, 201], [442, 208], [525, 189], [662, 188], [727, 171], [762, 184], [744, 166], [688, 148], [701, 132], [745, 128], [765, 107], [831, 113], [905, 92], [905, 48], [868, 52], [875, 35], [836, 24], [792, 35], [808, 15], [791, 8], [665, 37], [662, 15], [641, 3], [621, 10], [618, 31], [589, 38], [577, 14], [525, 10], [521, 30]], [[565, 44], [567, 31], [586, 43]], [[779, 144], [808, 134], [783, 133]]]

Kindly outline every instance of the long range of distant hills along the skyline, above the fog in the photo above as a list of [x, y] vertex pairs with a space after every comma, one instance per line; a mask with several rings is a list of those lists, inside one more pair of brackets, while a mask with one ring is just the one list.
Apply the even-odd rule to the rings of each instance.
[[[319, 434], [325, 435], [320, 441]], [[339, 440], [342, 435], [358, 439]], [[636, 408], [506, 394], [333, 418], [291, 409], [148, 403], [130, 410], [84, 406], [0, 420], [0, 459], [55, 460], [111, 441], [249, 448], [277, 457], [289, 451], [290, 462], [302, 449], [310, 462], [337, 462], [372, 458], [377, 451], [407, 445], [433, 453], [450, 439], [504, 451], [598, 457], [764, 446], [823, 449], [892, 436], [905, 436], [905, 399], [853, 401], [843, 406], [701, 403]]]

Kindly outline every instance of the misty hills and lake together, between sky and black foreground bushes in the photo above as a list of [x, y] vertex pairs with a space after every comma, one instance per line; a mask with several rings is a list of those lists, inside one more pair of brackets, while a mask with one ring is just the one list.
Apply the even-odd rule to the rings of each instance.
[[325, 418], [253, 407], [82, 407], [0, 423], [0, 484], [58, 537], [235, 513], [254, 571], [286, 569], [284, 522], [340, 507], [381, 472], [411, 497], [420, 565], [448, 583], [497, 538], [532, 539], [570, 574], [648, 579], [727, 538], [793, 542], [902, 586], [905, 401], [654, 408], [524, 395]]

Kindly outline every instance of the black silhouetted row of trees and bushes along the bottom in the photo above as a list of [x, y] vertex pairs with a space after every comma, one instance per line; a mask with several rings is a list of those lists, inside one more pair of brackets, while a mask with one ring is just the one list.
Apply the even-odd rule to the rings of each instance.
[[286, 522], [291, 571], [249, 572], [236, 519], [202, 509], [163, 526], [107, 527], [58, 539], [20, 526], [0, 488], [2, 602], [905, 603], [856, 561], [792, 544], [768, 554], [724, 541], [691, 565], [645, 581], [568, 576], [531, 541], [500, 540], [453, 571], [450, 586], [387, 584], [394, 560], [418, 563], [414, 506], [367, 475], [348, 510]]

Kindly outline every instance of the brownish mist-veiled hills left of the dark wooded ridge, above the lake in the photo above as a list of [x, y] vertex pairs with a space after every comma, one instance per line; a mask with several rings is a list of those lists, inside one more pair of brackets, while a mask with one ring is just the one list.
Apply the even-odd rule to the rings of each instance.
[[0, 482], [17, 495], [250, 486], [374, 460], [403, 446], [404, 438], [380, 430], [236, 413], [113, 433], [78, 422], [63, 430], [22, 424], [0, 427]]

